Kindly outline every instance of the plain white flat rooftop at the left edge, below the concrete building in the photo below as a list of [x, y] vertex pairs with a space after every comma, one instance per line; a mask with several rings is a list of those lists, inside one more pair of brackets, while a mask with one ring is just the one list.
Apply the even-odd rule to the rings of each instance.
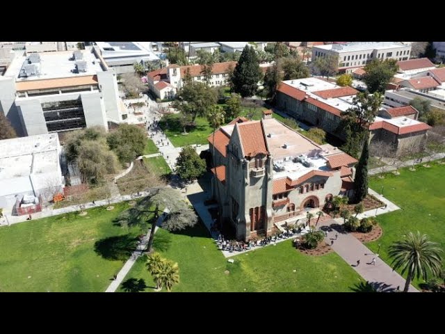
[[54, 173], [58, 170], [59, 150], [57, 134], [0, 141], [0, 182], [31, 174]]

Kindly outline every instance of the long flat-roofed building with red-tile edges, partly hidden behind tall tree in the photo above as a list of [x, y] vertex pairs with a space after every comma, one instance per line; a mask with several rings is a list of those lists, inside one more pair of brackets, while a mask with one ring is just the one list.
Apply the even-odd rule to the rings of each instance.
[[[288, 80], [283, 81], [277, 89], [277, 106], [297, 120], [309, 122], [345, 140], [346, 132], [341, 127], [341, 120], [343, 113], [353, 106], [353, 97], [357, 93], [354, 88], [336, 86], [314, 77]], [[386, 109], [393, 115], [399, 113], [388, 107]], [[402, 116], [405, 115], [391, 116], [391, 119], [376, 117], [370, 127], [373, 130], [371, 139], [385, 140], [396, 150], [412, 141], [416, 141], [416, 147], [421, 148], [430, 127], [418, 120], [405, 121], [401, 119]], [[386, 132], [391, 132], [391, 136]]]

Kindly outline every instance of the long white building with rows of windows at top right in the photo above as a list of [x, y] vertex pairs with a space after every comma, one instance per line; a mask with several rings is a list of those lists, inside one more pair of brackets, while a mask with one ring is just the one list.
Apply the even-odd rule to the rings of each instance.
[[328, 55], [339, 59], [339, 73], [350, 73], [364, 67], [373, 59], [410, 59], [411, 45], [402, 42], [350, 42], [346, 44], [317, 45], [312, 47], [312, 61]]

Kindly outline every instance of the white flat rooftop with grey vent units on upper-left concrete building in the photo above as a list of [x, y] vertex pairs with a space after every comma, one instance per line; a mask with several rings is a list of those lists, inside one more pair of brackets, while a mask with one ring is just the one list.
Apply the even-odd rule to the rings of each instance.
[[86, 61], [86, 72], [76, 73], [76, 61], [72, 60], [73, 51], [40, 52], [39, 74], [30, 77], [19, 77], [20, 70], [28, 63], [26, 56], [16, 56], [6, 70], [5, 77], [14, 77], [16, 82], [42, 79], [59, 79], [68, 77], [92, 76], [102, 72], [100, 60], [88, 50], [81, 51], [82, 61]]

